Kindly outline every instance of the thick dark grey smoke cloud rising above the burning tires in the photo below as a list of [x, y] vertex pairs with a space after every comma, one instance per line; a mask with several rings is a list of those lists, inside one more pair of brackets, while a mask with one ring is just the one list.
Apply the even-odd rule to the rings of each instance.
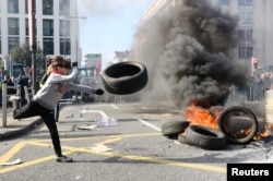
[[247, 64], [230, 58], [236, 26], [236, 17], [203, 0], [181, 0], [141, 24], [135, 37], [142, 51], [134, 52], [149, 70], [144, 99], [167, 99], [179, 108], [224, 105], [230, 87], [244, 88], [249, 75]]

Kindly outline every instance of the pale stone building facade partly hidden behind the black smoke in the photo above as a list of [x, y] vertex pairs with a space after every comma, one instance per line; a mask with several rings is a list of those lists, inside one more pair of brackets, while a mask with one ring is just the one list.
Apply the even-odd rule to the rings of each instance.
[[[223, 13], [237, 16], [237, 46], [232, 52], [234, 59], [249, 61], [251, 58], [258, 60], [261, 69], [273, 67], [273, 25], [271, 23], [273, 12], [272, 0], [205, 0], [206, 3], [219, 9]], [[158, 13], [178, 5], [181, 0], [154, 0], [150, 9], [143, 15], [143, 22], [150, 20]], [[141, 44], [145, 43], [145, 35], [135, 38], [141, 51]]]

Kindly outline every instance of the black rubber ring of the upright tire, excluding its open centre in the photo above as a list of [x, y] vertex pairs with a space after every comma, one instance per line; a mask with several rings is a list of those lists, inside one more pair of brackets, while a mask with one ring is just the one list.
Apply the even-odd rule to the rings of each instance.
[[[225, 125], [227, 125], [226, 124], [227, 122], [225, 122], [225, 121], [226, 121], [226, 119], [229, 118], [229, 116], [233, 116], [233, 114], [239, 116], [240, 113], [244, 113], [244, 116], [247, 116], [248, 118], [250, 118], [251, 132], [248, 135], [244, 135], [242, 137], [235, 137], [234, 136], [235, 132], [229, 133], [227, 131], [228, 128], [227, 129], [225, 128]], [[227, 109], [224, 109], [217, 119], [217, 124], [218, 124], [218, 129], [226, 135], [227, 142], [234, 143], [234, 144], [247, 144], [247, 143], [251, 142], [253, 140], [254, 135], [257, 134], [258, 126], [259, 126], [256, 114], [250, 109], [248, 109], [246, 107], [240, 107], [240, 106], [234, 106], [234, 107], [229, 107]], [[239, 129], [238, 132], [241, 132], [241, 129]]]

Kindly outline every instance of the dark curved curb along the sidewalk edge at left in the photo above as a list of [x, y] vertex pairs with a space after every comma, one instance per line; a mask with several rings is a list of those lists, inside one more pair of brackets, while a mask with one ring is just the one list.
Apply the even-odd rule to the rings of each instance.
[[43, 122], [44, 122], [43, 119], [39, 118], [39, 119], [33, 121], [31, 124], [23, 126], [22, 129], [5, 132], [5, 133], [0, 133], [0, 142], [11, 140], [11, 138], [16, 138], [19, 136], [25, 135], [25, 134], [29, 133], [32, 130], [39, 126]]

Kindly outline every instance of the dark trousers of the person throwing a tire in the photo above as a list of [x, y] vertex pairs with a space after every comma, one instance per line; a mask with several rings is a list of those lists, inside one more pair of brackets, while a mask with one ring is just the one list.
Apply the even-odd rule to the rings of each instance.
[[46, 123], [55, 148], [55, 153], [57, 156], [62, 156], [61, 154], [61, 145], [60, 137], [57, 130], [54, 110], [47, 109], [34, 100], [31, 100], [27, 105], [21, 107], [20, 109], [15, 109], [13, 112], [14, 119], [24, 119], [29, 117], [40, 116]]

